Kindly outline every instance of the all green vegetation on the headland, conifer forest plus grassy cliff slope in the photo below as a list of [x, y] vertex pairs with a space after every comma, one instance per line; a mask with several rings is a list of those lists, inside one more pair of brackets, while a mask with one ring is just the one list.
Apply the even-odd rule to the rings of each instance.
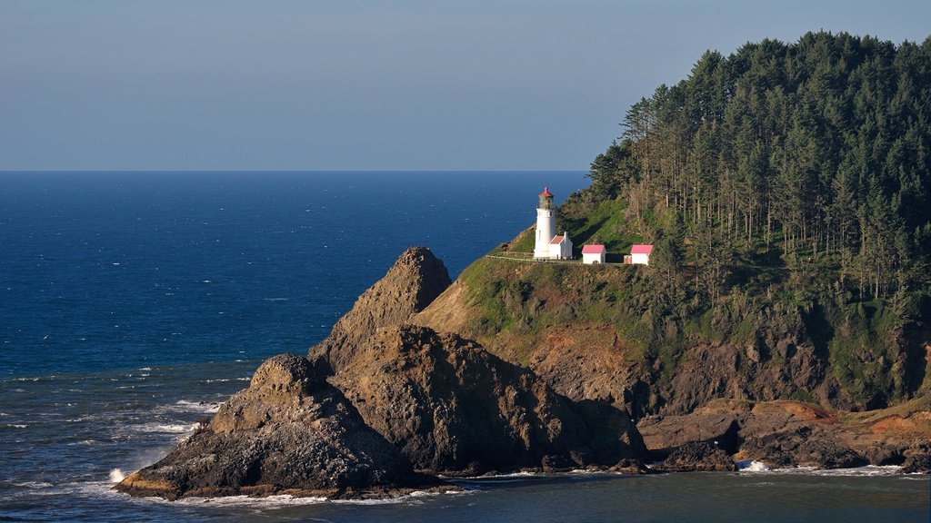
[[931, 38], [707, 52], [623, 125], [559, 229], [615, 261], [653, 243], [651, 266], [479, 261], [472, 334], [527, 359], [546, 329], [610, 325], [654, 396], [701, 344], [738, 349], [747, 396], [874, 409], [928, 390]]

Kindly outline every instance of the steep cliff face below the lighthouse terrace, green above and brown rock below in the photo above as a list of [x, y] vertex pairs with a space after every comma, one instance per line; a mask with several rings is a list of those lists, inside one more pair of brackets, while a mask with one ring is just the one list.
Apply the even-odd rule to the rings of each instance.
[[887, 330], [875, 336], [885, 332], [886, 346], [877, 348], [840, 309], [751, 305], [749, 298], [682, 325], [672, 319], [681, 312], [669, 308], [690, 305], [664, 286], [653, 267], [486, 258], [412, 322], [458, 332], [533, 370], [561, 395], [608, 401], [635, 418], [683, 414], [716, 398], [871, 409], [927, 390], [919, 388], [927, 329], [880, 325]]

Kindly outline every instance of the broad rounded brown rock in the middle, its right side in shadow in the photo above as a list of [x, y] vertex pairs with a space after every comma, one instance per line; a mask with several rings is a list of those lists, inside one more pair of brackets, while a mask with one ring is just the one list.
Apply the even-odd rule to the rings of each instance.
[[478, 343], [432, 329], [383, 329], [331, 382], [417, 469], [609, 465], [643, 449], [626, 413], [575, 404]]

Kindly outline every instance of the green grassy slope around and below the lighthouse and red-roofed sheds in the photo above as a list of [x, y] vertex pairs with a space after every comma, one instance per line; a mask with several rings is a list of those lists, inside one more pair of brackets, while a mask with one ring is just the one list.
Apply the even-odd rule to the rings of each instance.
[[[602, 201], [585, 211], [573, 203], [569, 207], [559, 227], [570, 232], [576, 250], [583, 243], [603, 243], [617, 260], [644, 239], [625, 218], [622, 201]], [[667, 217], [645, 219], [661, 227]], [[492, 254], [503, 251], [532, 252], [533, 228]], [[654, 369], [657, 392], [698, 343], [733, 344], [744, 359], [754, 358], [775, 374], [791, 372], [792, 347], [804, 347], [840, 383], [843, 401], [857, 409], [897, 404], [928, 391], [924, 343], [931, 340], [929, 329], [905, 319], [926, 315], [922, 303], [903, 314], [886, 302], [831, 296], [830, 278], [789, 274], [778, 258], [737, 263], [744, 266], [732, 273], [735, 285], [710, 302], [690, 289], [687, 274], [670, 277], [654, 267], [483, 258], [460, 276], [454, 298], [431, 306], [423, 322], [461, 332], [523, 365], [553, 343], [554, 333], [574, 337], [631, 365]], [[439, 312], [443, 309], [446, 313]], [[745, 367], [741, 363], [738, 372]], [[805, 387], [792, 389], [789, 397], [817, 400]]]

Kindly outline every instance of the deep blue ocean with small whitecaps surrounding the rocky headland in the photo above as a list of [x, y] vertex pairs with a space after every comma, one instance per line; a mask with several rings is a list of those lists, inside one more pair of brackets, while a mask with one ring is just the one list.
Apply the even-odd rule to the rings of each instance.
[[369, 503], [129, 498], [405, 248], [455, 277], [583, 172], [0, 173], [0, 521], [928, 521], [895, 468], [512, 475]]

